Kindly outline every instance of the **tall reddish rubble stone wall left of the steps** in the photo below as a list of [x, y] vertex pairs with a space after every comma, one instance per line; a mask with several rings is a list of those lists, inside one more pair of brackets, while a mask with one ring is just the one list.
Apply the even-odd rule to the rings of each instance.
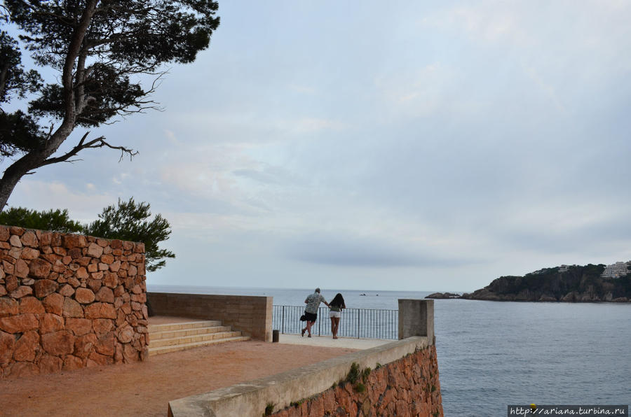
[[147, 358], [144, 243], [0, 226], [0, 376]]

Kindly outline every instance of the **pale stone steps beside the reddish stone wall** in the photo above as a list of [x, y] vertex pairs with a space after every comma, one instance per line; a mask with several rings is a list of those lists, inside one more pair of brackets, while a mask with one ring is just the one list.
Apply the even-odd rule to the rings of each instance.
[[217, 320], [149, 325], [149, 356], [197, 348], [227, 341], [250, 340]]

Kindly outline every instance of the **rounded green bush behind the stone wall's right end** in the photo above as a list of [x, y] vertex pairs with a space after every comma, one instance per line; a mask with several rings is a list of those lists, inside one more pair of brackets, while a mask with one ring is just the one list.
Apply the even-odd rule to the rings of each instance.
[[161, 249], [158, 243], [169, 239], [171, 227], [161, 214], [151, 217], [149, 203], [134, 202], [133, 197], [128, 202], [118, 199], [118, 206], [107, 206], [95, 220], [86, 226], [85, 233], [106, 239], [121, 239], [144, 243], [147, 271], [156, 271], [164, 267], [165, 257], [175, 257], [170, 250]]

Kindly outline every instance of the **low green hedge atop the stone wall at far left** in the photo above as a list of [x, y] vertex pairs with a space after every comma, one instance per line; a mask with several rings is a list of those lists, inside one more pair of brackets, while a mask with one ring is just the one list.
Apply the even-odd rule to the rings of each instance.
[[83, 232], [83, 225], [70, 220], [68, 211], [60, 209], [35, 211], [25, 207], [11, 207], [0, 212], [0, 224], [64, 233]]

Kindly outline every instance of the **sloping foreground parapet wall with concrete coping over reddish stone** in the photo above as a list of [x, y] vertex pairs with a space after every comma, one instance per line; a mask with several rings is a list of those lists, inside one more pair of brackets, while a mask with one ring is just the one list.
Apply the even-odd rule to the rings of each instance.
[[[360, 369], [374, 369], [363, 393], [356, 392], [350, 383], [333, 387], [346, 379], [353, 363]], [[378, 366], [379, 369], [375, 369]], [[282, 374], [171, 401], [169, 416], [258, 417], [265, 413], [268, 404], [274, 404], [277, 416], [324, 416], [327, 413], [357, 416], [358, 410], [377, 411], [379, 407], [384, 415], [396, 415], [397, 411], [406, 409], [409, 410], [407, 414], [400, 415], [442, 416], [433, 341], [427, 337], [410, 337]], [[391, 413], [393, 410], [395, 412]]]

